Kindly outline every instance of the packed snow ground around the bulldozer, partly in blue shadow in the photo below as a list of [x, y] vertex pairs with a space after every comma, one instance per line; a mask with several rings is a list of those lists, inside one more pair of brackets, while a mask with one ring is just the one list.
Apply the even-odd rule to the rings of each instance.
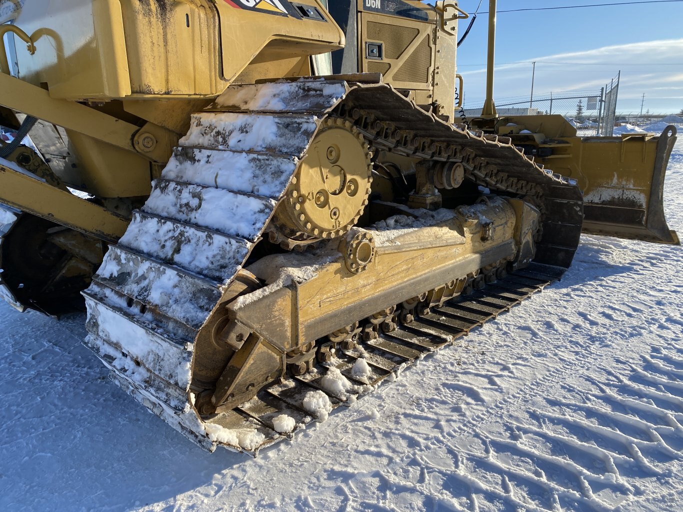
[[[667, 177], [683, 231], [683, 142]], [[0, 510], [683, 510], [683, 248], [585, 236], [462, 343], [257, 459], [204, 453], [0, 304]]]

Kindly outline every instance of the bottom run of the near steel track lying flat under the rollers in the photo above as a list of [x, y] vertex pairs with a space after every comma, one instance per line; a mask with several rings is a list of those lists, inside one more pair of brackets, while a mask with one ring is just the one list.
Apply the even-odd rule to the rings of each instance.
[[[227, 429], [255, 429], [262, 433], [265, 439], [253, 449], [232, 447], [255, 457], [266, 446], [292, 439], [297, 431], [316, 421], [303, 406], [307, 393], [322, 391], [329, 398], [333, 410], [339, 406], [350, 406], [356, 399], [372, 393], [382, 381], [387, 378], [393, 380], [417, 360], [452, 345], [458, 338], [469, 335], [558, 281], [563, 272], [562, 268], [531, 264], [525, 270], [517, 270], [504, 279], [485, 285], [483, 289], [451, 299], [443, 307], [432, 308], [430, 313], [417, 316], [410, 324], [397, 324], [395, 330], [382, 333], [376, 340], [361, 342], [353, 350], [337, 351], [335, 360], [318, 365], [317, 371], [270, 386], [238, 408], [204, 420], [208, 423], [216, 421]], [[365, 358], [372, 369], [367, 380], [359, 380], [352, 373], [352, 367], [359, 358]], [[322, 383], [326, 369], [331, 367], [339, 369], [352, 384], [365, 387], [363, 392], [349, 390], [342, 395], [331, 392]], [[368, 384], [370, 390], [367, 390]], [[273, 419], [281, 414], [296, 421], [292, 432], [282, 434], [275, 430]]]

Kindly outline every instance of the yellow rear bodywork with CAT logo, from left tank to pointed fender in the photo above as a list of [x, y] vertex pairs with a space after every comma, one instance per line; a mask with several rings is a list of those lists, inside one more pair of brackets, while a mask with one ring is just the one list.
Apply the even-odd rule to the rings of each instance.
[[[302, 3], [325, 12], [318, 1]], [[17, 48], [22, 79], [68, 100], [215, 96], [252, 63], [272, 66], [260, 78], [281, 77], [284, 59], [301, 69], [309, 55], [344, 45], [331, 18], [212, 0], [38, 2], [19, 9], [16, 23], [38, 48], [35, 55]]]

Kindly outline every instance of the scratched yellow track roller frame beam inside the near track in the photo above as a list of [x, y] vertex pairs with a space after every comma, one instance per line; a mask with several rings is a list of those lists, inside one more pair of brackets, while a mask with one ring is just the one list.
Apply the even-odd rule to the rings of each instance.
[[[236, 301], [229, 306], [231, 317], [290, 351], [362, 320], [368, 315], [368, 304], [374, 311], [382, 311], [517, 255], [518, 214], [512, 205], [503, 201], [487, 210], [490, 226], [482, 225], [478, 214], [462, 212], [448, 221], [398, 236], [391, 244], [377, 244], [363, 272], [346, 266], [346, 244], [342, 243], [339, 257], [316, 270], [313, 278], [295, 279], [292, 285], [258, 300]], [[522, 217], [522, 213], [520, 210], [520, 221], [538, 223], [538, 217], [529, 212]], [[518, 236], [528, 232], [517, 231]], [[257, 277], [260, 269], [267, 273], [268, 257], [257, 266], [248, 270]], [[266, 279], [266, 275], [260, 277]]]

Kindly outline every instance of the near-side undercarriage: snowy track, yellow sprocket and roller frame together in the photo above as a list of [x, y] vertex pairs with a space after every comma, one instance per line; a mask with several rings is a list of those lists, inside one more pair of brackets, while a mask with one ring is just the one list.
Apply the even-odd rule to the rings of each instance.
[[[286, 106], [249, 108], [268, 98]], [[579, 241], [575, 184], [382, 83], [233, 86], [193, 116], [181, 145], [84, 292], [86, 343], [132, 395], [209, 449], [253, 452], [287, 436], [297, 427], [278, 432], [273, 419], [305, 425], [319, 412], [306, 402], [316, 390], [323, 402], [346, 401], [316, 382], [326, 372], [370, 392], [414, 359], [387, 353], [398, 343], [387, 334], [432, 319], [450, 328], [422, 335], [447, 343], [556, 279]], [[501, 151], [515, 158], [492, 164], [486, 155]], [[374, 193], [393, 180], [372, 172], [387, 169], [373, 160], [382, 152], [419, 162], [404, 178], [424, 180], [423, 194], [401, 204]], [[532, 259], [546, 274], [507, 277]], [[459, 313], [448, 305], [486, 285], [499, 292], [488, 302], [468, 298]], [[510, 285], [522, 288], [502, 294]], [[349, 358], [372, 378], [354, 377]]]

